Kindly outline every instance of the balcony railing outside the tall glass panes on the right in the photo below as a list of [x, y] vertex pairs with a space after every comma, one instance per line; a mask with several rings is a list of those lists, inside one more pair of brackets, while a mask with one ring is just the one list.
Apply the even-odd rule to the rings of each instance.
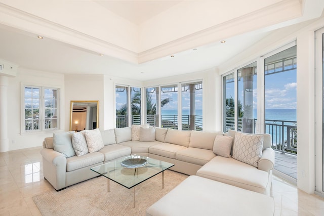
[[[254, 119], [254, 125], [257, 119]], [[234, 129], [234, 118], [226, 118], [226, 131]], [[242, 131], [242, 119], [238, 119], [238, 131]], [[282, 153], [297, 154], [297, 122], [265, 120], [265, 133], [271, 135], [272, 148]]]

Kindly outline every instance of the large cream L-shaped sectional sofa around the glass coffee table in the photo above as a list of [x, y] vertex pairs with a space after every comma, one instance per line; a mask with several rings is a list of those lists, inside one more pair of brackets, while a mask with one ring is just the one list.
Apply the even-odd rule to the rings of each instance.
[[[134, 136], [136, 134], [139, 136]], [[70, 132], [54, 134], [52, 138], [46, 138], [43, 142], [44, 148], [41, 154], [43, 155], [44, 178], [56, 190], [61, 190], [96, 177], [96, 172], [90, 170], [93, 166], [119, 157], [139, 154], [174, 163], [172, 170], [187, 175], [197, 175], [269, 195], [274, 167], [274, 152], [270, 148], [270, 135], [258, 136], [262, 138], [260, 138], [260, 141], [262, 140], [260, 158], [256, 163], [254, 161], [254, 165], [249, 165], [246, 161], [242, 162], [231, 156], [232, 144], [238, 145], [238, 139], [237, 142], [235, 141], [235, 134], [234, 131], [224, 136], [223, 132], [178, 131], [139, 126], [101, 132], [95, 129], [75, 134]], [[87, 153], [85, 150], [83, 155], [77, 156], [75, 154], [79, 147], [75, 147], [72, 141], [76, 137], [82, 138], [80, 135], [89, 138], [81, 143], [88, 145], [88, 149], [92, 151]], [[239, 135], [244, 134], [239, 133]], [[65, 140], [59, 139], [60, 136], [65, 136]], [[223, 139], [230, 141], [230, 145], [223, 143]], [[69, 146], [70, 154], [66, 152], [68, 150], [64, 142], [66, 146]], [[96, 146], [98, 143], [99, 145]], [[63, 148], [60, 148], [60, 145]], [[75, 147], [74, 154], [71, 152], [71, 147]]]

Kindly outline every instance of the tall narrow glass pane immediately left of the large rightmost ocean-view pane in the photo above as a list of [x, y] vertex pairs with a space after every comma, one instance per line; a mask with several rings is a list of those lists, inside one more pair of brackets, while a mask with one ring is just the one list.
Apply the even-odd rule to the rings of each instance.
[[237, 131], [255, 133], [257, 119], [257, 62], [237, 70]]

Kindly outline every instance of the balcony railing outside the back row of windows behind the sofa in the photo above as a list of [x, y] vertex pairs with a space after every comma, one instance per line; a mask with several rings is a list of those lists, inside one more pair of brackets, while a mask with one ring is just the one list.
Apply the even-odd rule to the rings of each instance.
[[[125, 115], [117, 115], [116, 116], [116, 127], [126, 127], [127, 117]], [[178, 129], [178, 115], [161, 115], [161, 126], [165, 128], [173, 128]], [[203, 131], [203, 116], [195, 115], [195, 130]], [[132, 123], [131, 124], [141, 124], [141, 116], [140, 115], [132, 115]], [[146, 122], [151, 126], [156, 126], [155, 115], [147, 115]], [[190, 129], [190, 115], [182, 115], [182, 130], [188, 131]]]

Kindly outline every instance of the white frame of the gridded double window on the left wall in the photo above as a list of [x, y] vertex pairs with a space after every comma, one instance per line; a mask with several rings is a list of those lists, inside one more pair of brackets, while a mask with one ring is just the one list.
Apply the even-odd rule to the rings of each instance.
[[[38, 129], [31, 129], [31, 130], [25, 130], [25, 88], [37, 88], [39, 89], [39, 126]], [[45, 128], [45, 89], [51, 89], [57, 91], [57, 104], [56, 104], [56, 110], [57, 110], [57, 126], [53, 128]], [[34, 84], [34, 83], [21, 83], [21, 126], [20, 126], [20, 132], [21, 134], [29, 134], [29, 133], [41, 133], [41, 132], [49, 132], [49, 131], [56, 131], [60, 129], [60, 88], [54, 87], [51, 85], [41, 85], [41, 84]]]

